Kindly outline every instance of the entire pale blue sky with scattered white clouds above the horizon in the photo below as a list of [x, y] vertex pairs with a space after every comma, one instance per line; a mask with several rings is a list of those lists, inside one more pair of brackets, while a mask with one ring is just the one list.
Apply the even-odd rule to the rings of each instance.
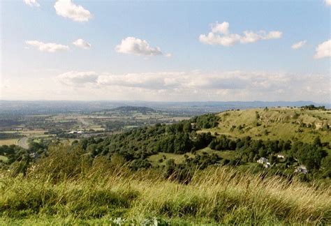
[[330, 103], [331, 0], [0, 8], [2, 100]]

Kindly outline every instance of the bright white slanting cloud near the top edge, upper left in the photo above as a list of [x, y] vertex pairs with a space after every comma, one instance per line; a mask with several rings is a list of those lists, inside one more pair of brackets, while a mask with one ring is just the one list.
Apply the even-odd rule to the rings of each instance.
[[67, 17], [75, 22], [86, 22], [91, 19], [92, 15], [89, 10], [82, 6], [75, 5], [71, 0], [58, 0], [54, 4], [57, 15]]

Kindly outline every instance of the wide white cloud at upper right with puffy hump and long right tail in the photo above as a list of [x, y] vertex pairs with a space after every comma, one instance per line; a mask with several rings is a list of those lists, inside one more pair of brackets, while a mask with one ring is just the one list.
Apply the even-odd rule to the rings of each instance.
[[233, 46], [237, 43], [256, 43], [258, 40], [269, 40], [281, 38], [281, 31], [244, 31], [243, 35], [230, 33], [228, 22], [212, 24], [212, 31], [206, 34], [200, 34], [199, 40], [207, 45]]

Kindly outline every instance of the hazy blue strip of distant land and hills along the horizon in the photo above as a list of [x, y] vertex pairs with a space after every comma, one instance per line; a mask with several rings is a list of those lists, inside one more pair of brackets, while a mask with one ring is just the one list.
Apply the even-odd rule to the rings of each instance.
[[310, 101], [200, 101], [200, 102], [152, 102], [152, 101], [70, 101], [70, 100], [0, 100], [0, 114], [59, 114], [68, 112], [98, 112], [114, 107], [152, 107], [163, 112], [185, 113], [188, 116], [208, 112], [222, 112], [231, 109], [249, 109], [256, 107], [300, 107], [303, 105], [325, 105], [330, 103], [313, 103]]

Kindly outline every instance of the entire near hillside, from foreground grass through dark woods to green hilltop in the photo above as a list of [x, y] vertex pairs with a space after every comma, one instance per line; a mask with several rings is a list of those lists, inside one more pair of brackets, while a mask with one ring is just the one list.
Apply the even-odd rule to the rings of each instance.
[[330, 225], [329, 130], [274, 108], [0, 146], [0, 225]]

